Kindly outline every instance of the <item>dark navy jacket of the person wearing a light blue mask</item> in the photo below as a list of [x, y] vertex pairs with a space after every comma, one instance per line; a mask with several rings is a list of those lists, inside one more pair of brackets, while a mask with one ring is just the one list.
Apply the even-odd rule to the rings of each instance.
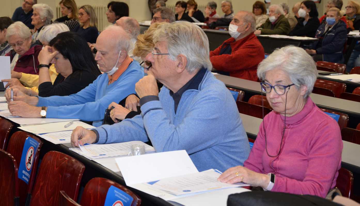
[[[321, 24], [316, 31], [315, 38], [321, 38], [325, 32], [325, 26], [327, 24]], [[314, 42], [314, 50], [317, 54], [323, 55], [324, 61], [343, 63], [344, 56], [342, 51], [347, 39], [346, 24], [339, 20], [338, 23], [323, 36], [323, 43], [321, 47], [318, 46], [319, 41]], [[319, 47], [319, 48], [318, 48]]]

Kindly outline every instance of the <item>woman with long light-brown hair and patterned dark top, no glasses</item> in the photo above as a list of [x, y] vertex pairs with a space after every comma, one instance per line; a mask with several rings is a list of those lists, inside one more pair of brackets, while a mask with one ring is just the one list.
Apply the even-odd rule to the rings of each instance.
[[54, 21], [54, 23], [64, 23], [71, 30], [79, 25], [77, 5], [74, 0], [61, 0], [60, 11], [63, 17], [60, 17]]

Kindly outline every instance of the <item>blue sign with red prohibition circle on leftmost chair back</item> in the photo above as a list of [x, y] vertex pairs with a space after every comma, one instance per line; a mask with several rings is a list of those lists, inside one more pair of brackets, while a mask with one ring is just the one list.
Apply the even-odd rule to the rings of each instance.
[[29, 183], [32, 165], [38, 146], [39, 142], [35, 141], [31, 137], [26, 138], [18, 170], [18, 178], [26, 182], [26, 184]]

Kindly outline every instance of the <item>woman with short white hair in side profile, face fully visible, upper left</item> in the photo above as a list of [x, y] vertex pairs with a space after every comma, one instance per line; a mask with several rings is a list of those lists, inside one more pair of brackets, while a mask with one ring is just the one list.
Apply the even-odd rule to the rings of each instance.
[[31, 24], [34, 25], [32, 40], [36, 41], [41, 29], [45, 25], [51, 24], [51, 19], [53, 19], [54, 14], [53, 10], [51, 10], [50, 6], [47, 4], [34, 4], [32, 9]]

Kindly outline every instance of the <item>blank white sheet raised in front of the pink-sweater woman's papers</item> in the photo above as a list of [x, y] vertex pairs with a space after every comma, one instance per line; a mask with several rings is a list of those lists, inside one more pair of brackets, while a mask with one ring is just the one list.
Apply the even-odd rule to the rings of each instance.
[[126, 185], [198, 172], [185, 150], [116, 158]]

